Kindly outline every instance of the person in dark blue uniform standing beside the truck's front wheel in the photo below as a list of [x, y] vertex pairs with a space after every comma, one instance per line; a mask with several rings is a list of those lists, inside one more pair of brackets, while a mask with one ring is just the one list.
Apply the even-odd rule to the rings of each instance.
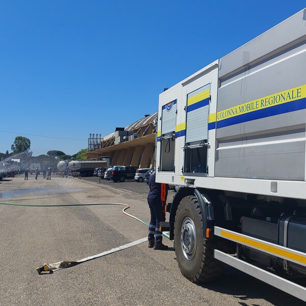
[[159, 230], [160, 222], [165, 221], [165, 211], [162, 208], [162, 197], [164, 201], [167, 198], [167, 188], [164, 188], [164, 193], [162, 190], [162, 184], [156, 183], [155, 172], [151, 174], [149, 178], [149, 193], [147, 196], [148, 205], [150, 208], [151, 219], [149, 224], [149, 235], [148, 235], [148, 247], [153, 247], [155, 250], [166, 250], [167, 245], [164, 245], [162, 240], [162, 232]]

